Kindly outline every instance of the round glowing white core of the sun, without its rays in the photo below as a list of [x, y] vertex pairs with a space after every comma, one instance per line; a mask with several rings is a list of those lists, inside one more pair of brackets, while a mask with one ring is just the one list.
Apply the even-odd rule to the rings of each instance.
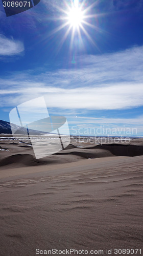
[[69, 25], [73, 28], [79, 28], [84, 22], [84, 14], [78, 6], [74, 6], [67, 13], [67, 20]]

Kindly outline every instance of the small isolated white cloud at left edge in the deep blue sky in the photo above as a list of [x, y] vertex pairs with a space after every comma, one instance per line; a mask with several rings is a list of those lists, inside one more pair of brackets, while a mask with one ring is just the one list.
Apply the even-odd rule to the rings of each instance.
[[12, 56], [25, 50], [23, 43], [0, 34], [0, 56]]

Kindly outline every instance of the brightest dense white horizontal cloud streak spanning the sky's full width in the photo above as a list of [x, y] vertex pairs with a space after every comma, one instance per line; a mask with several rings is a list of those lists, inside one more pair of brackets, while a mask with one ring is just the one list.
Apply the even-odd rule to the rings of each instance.
[[0, 90], [0, 94], [3, 95], [1, 106], [20, 104], [39, 96], [45, 97], [49, 108], [117, 110], [135, 108], [143, 104], [142, 83], [118, 83], [112, 86], [106, 84], [94, 88], [65, 89], [35, 87], [34, 83], [28, 82], [27, 86], [25, 83], [25, 87], [21, 84], [19, 88]]

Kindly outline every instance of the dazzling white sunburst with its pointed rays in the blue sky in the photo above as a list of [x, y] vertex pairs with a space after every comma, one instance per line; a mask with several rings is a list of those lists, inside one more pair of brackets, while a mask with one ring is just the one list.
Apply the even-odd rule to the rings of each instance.
[[86, 2], [87, 0], [64, 1], [65, 8], [58, 7], [58, 11], [60, 11], [60, 13], [62, 14], [57, 19], [59, 19], [62, 22], [62, 24], [59, 27], [57, 27], [52, 32], [52, 34], [67, 28], [66, 30], [64, 30], [65, 33], [60, 42], [60, 48], [62, 47], [69, 33], [71, 33], [70, 47], [73, 46], [75, 34], [76, 35], [78, 34], [81, 44], [83, 44], [82, 34], [84, 34], [88, 38], [88, 40], [94, 46], [97, 47], [96, 42], [92, 39], [92, 37], [87, 31], [87, 27], [98, 30], [98, 27], [96, 25], [92, 25], [89, 20], [91, 18], [96, 18], [103, 14], [96, 14], [96, 13], [91, 14], [91, 10], [98, 3], [98, 1], [95, 1], [93, 4], [85, 7]]

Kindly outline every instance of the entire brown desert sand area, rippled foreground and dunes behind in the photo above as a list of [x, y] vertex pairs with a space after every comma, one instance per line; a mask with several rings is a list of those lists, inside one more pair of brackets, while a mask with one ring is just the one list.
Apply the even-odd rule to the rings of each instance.
[[142, 139], [135, 139], [70, 144], [36, 160], [28, 141], [1, 138], [0, 254], [137, 248], [141, 253], [128, 255], [142, 255], [142, 155]]

